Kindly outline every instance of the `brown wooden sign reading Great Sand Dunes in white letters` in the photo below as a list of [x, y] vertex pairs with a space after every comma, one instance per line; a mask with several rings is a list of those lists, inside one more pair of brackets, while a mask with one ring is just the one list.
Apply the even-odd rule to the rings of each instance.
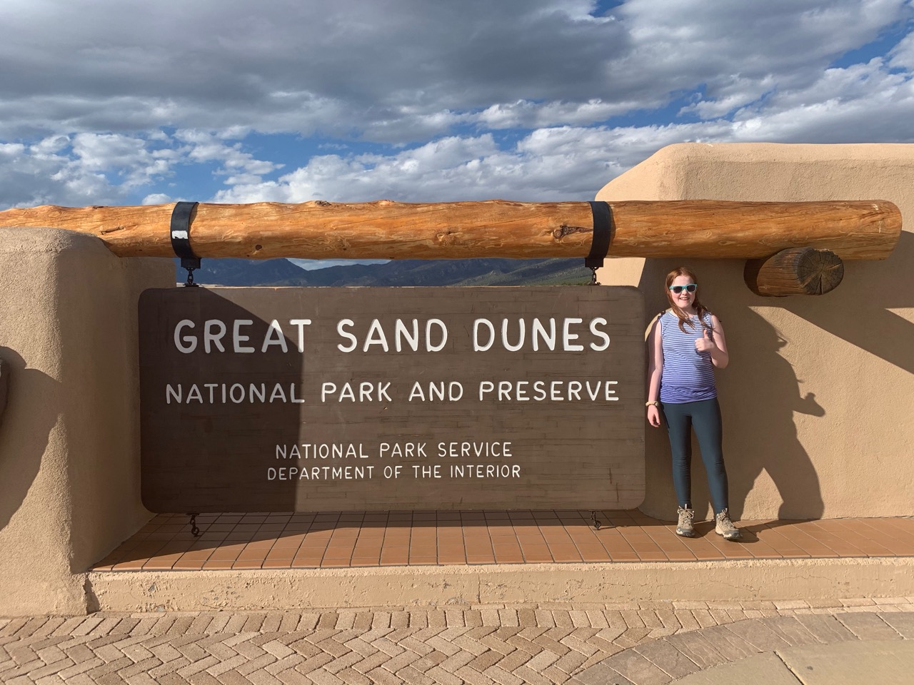
[[151, 511], [643, 500], [634, 288], [175, 288], [139, 318]]

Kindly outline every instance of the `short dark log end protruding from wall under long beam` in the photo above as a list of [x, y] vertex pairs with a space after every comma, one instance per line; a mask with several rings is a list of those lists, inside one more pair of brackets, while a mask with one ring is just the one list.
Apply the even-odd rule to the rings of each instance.
[[824, 295], [837, 288], [845, 265], [827, 249], [790, 248], [767, 259], [746, 262], [743, 278], [749, 290], [765, 297]]

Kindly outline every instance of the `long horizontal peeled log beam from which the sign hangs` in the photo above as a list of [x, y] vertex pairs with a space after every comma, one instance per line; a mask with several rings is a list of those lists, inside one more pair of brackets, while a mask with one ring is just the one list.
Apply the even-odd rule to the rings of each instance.
[[[610, 205], [611, 257], [755, 259], [809, 246], [884, 259], [901, 232], [898, 207], [882, 200]], [[100, 237], [121, 257], [171, 257], [173, 206], [9, 209], [0, 226], [67, 228]], [[592, 231], [586, 202], [200, 204], [190, 243], [202, 258], [586, 257]]]

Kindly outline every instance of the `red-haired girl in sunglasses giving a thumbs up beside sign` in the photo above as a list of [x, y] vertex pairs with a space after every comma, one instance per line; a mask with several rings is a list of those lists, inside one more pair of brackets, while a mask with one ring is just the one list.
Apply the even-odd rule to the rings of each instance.
[[725, 540], [740, 540], [742, 533], [728, 513], [727, 470], [721, 448], [720, 406], [714, 367], [729, 362], [727, 342], [720, 321], [698, 301], [698, 281], [680, 267], [666, 275], [670, 309], [654, 320], [648, 336], [647, 420], [660, 426], [663, 415], [673, 454], [673, 482], [679, 500], [676, 534], [694, 537], [692, 520], [692, 429], [714, 506], [715, 532]]

